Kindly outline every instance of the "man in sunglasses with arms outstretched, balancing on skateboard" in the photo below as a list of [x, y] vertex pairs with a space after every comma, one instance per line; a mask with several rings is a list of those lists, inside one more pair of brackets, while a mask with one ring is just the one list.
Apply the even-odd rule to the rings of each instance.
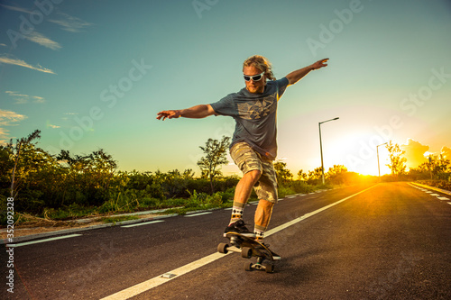
[[[320, 59], [305, 68], [299, 68], [279, 80], [272, 74], [268, 59], [254, 55], [244, 60], [245, 88], [226, 95], [210, 105], [195, 105], [182, 110], [158, 113], [158, 120], [205, 118], [209, 115], [227, 115], [235, 119], [235, 132], [230, 144], [230, 156], [243, 172], [235, 188], [234, 205], [226, 232], [237, 232], [263, 242], [277, 203], [277, 178], [272, 161], [277, 155], [276, 113], [278, 101], [287, 86], [294, 85], [311, 70], [327, 67], [328, 59]], [[269, 80], [269, 81], [267, 81]], [[244, 207], [252, 188], [259, 198], [254, 215], [254, 229], [250, 232], [244, 225]]]

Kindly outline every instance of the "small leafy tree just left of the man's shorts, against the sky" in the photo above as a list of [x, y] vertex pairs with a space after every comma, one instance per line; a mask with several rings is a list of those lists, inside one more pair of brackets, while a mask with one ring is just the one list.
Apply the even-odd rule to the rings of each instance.
[[198, 160], [198, 166], [202, 175], [205, 175], [205, 177], [210, 179], [212, 194], [215, 192], [213, 187], [214, 178], [222, 174], [220, 171], [221, 165], [226, 165], [228, 163], [226, 153], [230, 143], [229, 141], [229, 137], [223, 136], [221, 141], [208, 139], [205, 147], [199, 146], [206, 156]]

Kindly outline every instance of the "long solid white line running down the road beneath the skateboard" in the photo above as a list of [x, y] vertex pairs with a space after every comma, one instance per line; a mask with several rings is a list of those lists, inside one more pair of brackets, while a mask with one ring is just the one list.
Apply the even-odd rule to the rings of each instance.
[[[267, 237], [267, 236], [270, 236], [270, 235], [272, 235], [272, 234], [274, 234], [276, 232], [280, 232], [281, 230], [284, 230], [285, 228], [287, 228], [287, 227], [289, 227], [289, 226], [291, 226], [291, 225], [293, 225], [295, 223], [299, 223], [300, 221], [303, 221], [303, 220], [305, 220], [305, 219], [307, 219], [307, 218], [309, 218], [309, 217], [311, 217], [311, 216], [313, 216], [315, 214], [323, 212], [323, 211], [329, 209], [330, 207], [338, 205], [338, 204], [340, 204], [340, 203], [342, 203], [342, 202], [354, 197], [355, 195], [362, 194], [362, 193], [366, 192], [367, 190], [369, 190], [369, 189], [371, 189], [373, 187], [374, 186], [368, 187], [368, 188], [364, 189], [363, 191], [360, 191], [360, 192], [358, 192], [358, 193], [356, 193], [354, 195], [347, 196], [344, 199], [341, 199], [341, 200], [339, 200], [339, 201], [337, 201], [337, 202], [335, 202], [335, 203], [333, 203], [331, 205], [324, 206], [324, 207], [316, 210], [315, 212], [304, 214], [303, 216], [301, 216], [301, 217], [299, 217], [297, 219], [294, 219], [294, 220], [290, 221], [289, 223], [282, 224], [281, 226], [278, 226], [278, 227], [272, 229], [271, 231], [265, 232], [264, 235]], [[229, 252], [228, 254], [230, 254], [230, 253], [231, 252]], [[151, 279], [149, 279], [147, 281], [144, 281], [144, 282], [142, 282], [140, 284], [137, 284], [135, 286], [130, 286], [130, 287], [125, 288], [124, 290], [119, 291], [119, 292], [117, 292], [117, 293], [115, 293], [113, 295], [108, 295], [105, 298], [102, 298], [101, 300], [116, 300], [116, 299], [117, 300], [123, 300], [123, 299], [129, 299], [129, 298], [131, 298], [131, 297], [133, 297], [135, 295], [139, 295], [139, 294], [141, 294], [141, 293], [143, 293], [145, 291], [148, 291], [148, 290], [152, 289], [153, 287], [161, 286], [162, 284], [164, 284], [164, 283], [166, 283], [166, 282], [168, 282], [170, 280], [173, 280], [174, 278], [177, 278], [177, 277], [180, 277], [182, 275], [185, 275], [185, 274], [189, 273], [192, 270], [195, 270], [197, 268], [203, 267], [203, 266], [205, 266], [205, 265], [207, 265], [207, 264], [209, 264], [209, 263], [211, 263], [211, 262], [213, 262], [213, 261], [215, 261], [217, 259], [222, 259], [228, 254], [222, 254], [222, 253], [218, 253], [218, 252], [210, 254], [210, 255], [202, 258], [202, 259], [198, 259], [196, 261], [193, 261], [193, 262], [189, 263], [188, 265], [185, 265], [183, 267], [176, 268], [176, 269], [173, 269], [171, 271], [165, 272], [165, 273], [163, 273], [162, 275], [160, 275], [158, 277], [153, 277], [153, 278], [151, 278]], [[171, 275], [174, 275], [174, 276], [168, 277], [168, 276], [165, 276], [166, 274], [171, 274]]]

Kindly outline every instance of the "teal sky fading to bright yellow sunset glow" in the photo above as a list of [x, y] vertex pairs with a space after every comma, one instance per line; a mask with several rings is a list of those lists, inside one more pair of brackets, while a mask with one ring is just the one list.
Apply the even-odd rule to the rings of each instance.
[[[278, 108], [278, 159], [296, 176], [321, 166], [389, 173], [393, 141], [415, 168], [451, 159], [451, 2], [0, 1], [0, 142], [41, 130], [51, 154], [104, 149], [118, 170], [199, 174], [199, 146], [232, 136], [225, 116], [156, 120], [244, 87], [260, 54], [289, 86]], [[380, 146], [381, 145], [381, 146]], [[238, 174], [230, 156], [224, 174]]]

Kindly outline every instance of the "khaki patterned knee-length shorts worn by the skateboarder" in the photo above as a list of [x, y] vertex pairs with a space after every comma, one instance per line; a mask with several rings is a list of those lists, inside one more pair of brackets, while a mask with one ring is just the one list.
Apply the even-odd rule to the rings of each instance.
[[237, 142], [230, 150], [230, 156], [243, 174], [252, 170], [259, 170], [262, 176], [253, 190], [260, 200], [277, 203], [277, 177], [272, 160], [253, 150], [248, 143]]

